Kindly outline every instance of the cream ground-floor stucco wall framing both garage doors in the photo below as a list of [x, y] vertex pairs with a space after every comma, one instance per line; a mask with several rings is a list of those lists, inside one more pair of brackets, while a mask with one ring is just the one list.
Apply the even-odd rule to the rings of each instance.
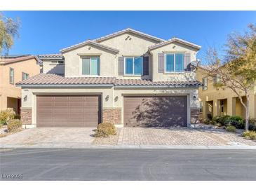
[[[23, 88], [22, 108], [32, 109], [32, 125], [36, 126], [36, 95], [41, 94], [100, 94], [102, 95], [102, 109], [121, 108], [121, 125], [123, 124], [123, 95], [187, 95], [188, 122], [190, 122], [190, 108], [198, 108], [198, 90], [184, 89], [122, 89], [122, 88]], [[26, 97], [26, 100], [25, 100]]]

